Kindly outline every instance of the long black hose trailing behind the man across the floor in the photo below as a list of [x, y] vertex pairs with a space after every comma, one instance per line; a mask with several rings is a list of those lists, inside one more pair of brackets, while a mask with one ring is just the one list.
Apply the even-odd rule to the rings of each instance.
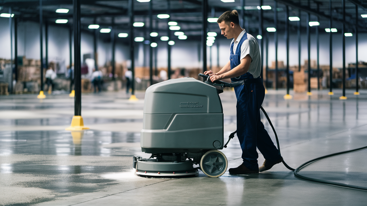
[[[277, 144], [277, 147], [278, 147], [278, 150], [279, 150], [279, 153], [280, 153], [279, 140], [278, 140], [278, 136], [277, 136], [277, 134], [275, 132], [274, 126], [273, 126], [272, 122], [270, 121], [270, 118], [269, 118], [268, 114], [266, 114], [264, 108], [262, 108], [262, 107], [260, 107], [260, 108], [261, 108], [261, 111], [265, 114], [266, 119], [268, 119], [268, 122], [269, 122], [270, 126], [273, 129], [273, 132], [275, 134], [276, 144]], [[320, 180], [320, 179], [316, 179], [316, 178], [312, 178], [312, 177], [306, 177], [306, 176], [303, 176], [301, 174], [298, 174], [298, 172], [301, 169], [304, 169], [306, 166], [308, 166], [311, 163], [316, 162], [316, 161], [318, 161], [320, 159], [324, 159], [324, 158], [328, 158], [328, 157], [333, 157], [335, 155], [345, 154], [345, 153], [348, 153], [348, 152], [354, 152], [354, 151], [358, 151], [358, 150], [363, 150], [363, 149], [366, 149], [366, 148], [367, 148], [367, 146], [364, 146], [364, 147], [356, 148], [356, 149], [353, 149], [353, 150], [347, 150], [347, 151], [337, 152], [337, 153], [325, 155], [325, 156], [322, 156], [322, 157], [318, 157], [318, 158], [315, 158], [315, 159], [311, 159], [310, 161], [303, 163], [297, 169], [293, 169], [290, 166], [288, 166], [287, 163], [284, 162], [284, 160], [283, 160], [283, 164], [289, 170], [294, 171], [293, 173], [294, 173], [295, 176], [297, 176], [299, 178], [302, 178], [302, 179], [305, 179], [305, 180], [310, 180], [310, 181], [314, 181], [314, 182], [318, 182], [318, 183], [324, 183], [324, 184], [337, 185], [337, 186], [341, 186], [341, 187], [349, 187], [349, 188], [354, 188], [354, 189], [359, 189], [359, 190], [367, 190], [367, 187], [359, 187], [359, 186], [356, 186], [356, 185], [349, 185], [349, 184], [338, 183], [338, 182], [333, 182], [333, 181]]]

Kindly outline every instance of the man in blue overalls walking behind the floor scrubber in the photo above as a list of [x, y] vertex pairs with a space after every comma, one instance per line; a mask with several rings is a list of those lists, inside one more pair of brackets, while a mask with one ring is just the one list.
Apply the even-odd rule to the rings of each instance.
[[[231, 174], [259, 173], [283, 161], [279, 150], [270, 139], [264, 124], [260, 121], [260, 107], [264, 101], [265, 88], [260, 77], [261, 56], [255, 38], [239, 25], [236, 10], [224, 12], [217, 21], [219, 28], [228, 39], [233, 38], [230, 60], [218, 72], [206, 71], [212, 82], [231, 78], [232, 82], [244, 80], [235, 87], [237, 97], [237, 137], [242, 149], [243, 163], [230, 168]], [[256, 147], [265, 158], [259, 168]]]

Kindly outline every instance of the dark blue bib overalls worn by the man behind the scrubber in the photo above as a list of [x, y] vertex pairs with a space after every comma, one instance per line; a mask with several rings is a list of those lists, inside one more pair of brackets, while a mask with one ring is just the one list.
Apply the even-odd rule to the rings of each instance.
[[[245, 40], [247, 40], [246, 32], [239, 41], [235, 54], [233, 54], [234, 43], [231, 45], [230, 69], [240, 65], [241, 45]], [[231, 78], [232, 82], [247, 79], [254, 79], [254, 77], [247, 72], [240, 77]], [[264, 101], [265, 88], [261, 83], [261, 77], [258, 77], [258, 79], [259, 81], [252, 81], [254, 83], [245, 83], [235, 87], [237, 97], [237, 137], [241, 144], [244, 166], [250, 170], [259, 169], [256, 147], [269, 162], [276, 161], [281, 157], [279, 150], [275, 147], [268, 132], [265, 130], [264, 124], [260, 121], [260, 107]]]

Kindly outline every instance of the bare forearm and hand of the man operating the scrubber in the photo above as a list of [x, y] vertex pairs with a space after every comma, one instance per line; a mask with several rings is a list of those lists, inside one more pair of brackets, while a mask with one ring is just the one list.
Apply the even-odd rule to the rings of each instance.
[[[217, 74], [211, 74], [210, 80], [212, 82], [214, 82], [214, 81], [218, 81], [218, 80], [222, 80], [222, 79], [228, 79], [228, 78], [241, 76], [241, 75], [247, 73], [248, 69], [250, 68], [251, 60], [252, 60], [251, 56], [246, 55], [245, 58], [241, 59], [240, 65], [236, 66], [232, 70], [230, 69], [230, 66], [229, 66], [229, 70], [226, 71], [225, 73], [222, 73], [222, 74], [218, 74], [219, 72]], [[224, 69], [224, 67], [223, 67], [223, 69]]]

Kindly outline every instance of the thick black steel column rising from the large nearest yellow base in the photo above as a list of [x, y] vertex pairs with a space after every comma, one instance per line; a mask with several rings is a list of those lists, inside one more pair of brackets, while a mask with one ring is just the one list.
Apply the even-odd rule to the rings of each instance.
[[80, 0], [73, 0], [74, 25], [74, 116], [81, 116]]

